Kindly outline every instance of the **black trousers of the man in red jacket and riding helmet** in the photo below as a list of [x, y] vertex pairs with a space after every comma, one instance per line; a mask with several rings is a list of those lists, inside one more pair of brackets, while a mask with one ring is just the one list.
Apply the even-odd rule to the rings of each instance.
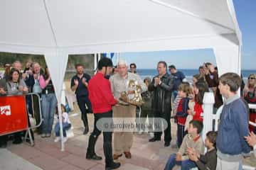
[[[95, 113], [95, 124], [94, 129], [89, 138], [89, 145], [87, 147], [87, 154], [95, 154], [95, 143], [97, 141], [97, 137], [101, 134], [101, 131], [97, 128], [96, 123], [100, 118], [110, 118], [112, 121], [112, 111], [108, 111], [105, 113]], [[105, 163], [106, 166], [113, 163], [112, 157], [112, 132], [104, 132], [103, 131], [103, 150], [105, 154]]]

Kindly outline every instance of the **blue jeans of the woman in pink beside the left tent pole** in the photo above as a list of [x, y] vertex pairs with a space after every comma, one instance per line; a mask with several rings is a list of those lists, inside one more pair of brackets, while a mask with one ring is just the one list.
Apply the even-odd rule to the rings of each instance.
[[42, 94], [43, 133], [51, 134], [56, 106], [57, 98], [55, 97], [55, 94]]

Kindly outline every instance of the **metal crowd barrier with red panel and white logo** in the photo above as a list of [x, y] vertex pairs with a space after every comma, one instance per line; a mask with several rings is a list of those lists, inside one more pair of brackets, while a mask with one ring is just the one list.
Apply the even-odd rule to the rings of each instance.
[[[14, 100], [12, 100], [11, 98]], [[10, 101], [17, 102], [17, 103], [8, 103], [9, 99], [10, 99]], [[27, 100], [31, 100], [31, 103], [27, 102]], [[19, 103], [19, 101], [20, 101], [20, 103]], [[31, 104], [31, 109], [29, 108], [30, 106], [28, 106], [29, 104]], [[5, 105], [5, 106], [3, 106], [3, 105]], [[25, 106], [23, 106], [23, 105], [25, 105]], [[17, 108], [17, 106], [18, 106], [18, 108]], [[38, 106], [38, 108], [36, 108], [38, 113], [35, 112], [34, 106]], [[21, 108], [21, 109], [19, 109], [19, 108]], [[3, 118], [7, 118], [7, 115], [11, 116], [11, 111], [14, 111], [14, 113], [16, 112], [16, 114], [11, 116], [10, 118], [16, 119], [16, 118], [18, 118], [18, 115], [21, 115], [23, 117], [20, 118], [20, 120], [18, 120], [18, 121], [16, 120], [16, 123], [18, 123], [18, 122], [21, 123], [21, 121], [26, 121], [26, 122], [23, 122], [23, 123], [25, 123], [23, 125], [11, 125], [10, 123], [6, 123], [7, 127], [3, 127], [4, 123], [1, 123], [2, 127], [0, 126], [0, 128], [5, 128], [5, 132], [4, 132], [4, 130], [2, 130], [3, 132], [0, 131], [0, 136], [1, 135], [9, 135], [14, 132], [21, 132], [23, 130], [26, 130], [26, 135], [24, 137], [24, 140], [26, 141], [27, 139], [29, 139], [31, 142], [31, 146], [33, 146], [34, 142], [32, 140], [31, 130], [38, 128], [43, 122], [42, 111], [41, 111], [41, 97], [35, 93], [29, 93], [29, 94], [24, 94], [24, 95], [0, 96], [0, 111], [1, 111], [1, 116], [4, 116], [4, 114], [6, 115]], [[31, 111], [31, 113], [29, 111]], [[17, 112], [18, 112], [18, 114], [17, 114]], [[31, 117], [33, 118], [34, 125], [31, 125], [29, 115], [31, 115]], [[10, 120], [10, 118], [9, 119], [7, 118], [6, 120], [7, 121]], [[2, 119], [2, 120], [4, 120], [4, 119]], [[14, 128], [10, 128], [10, 127], [14, 127]]]

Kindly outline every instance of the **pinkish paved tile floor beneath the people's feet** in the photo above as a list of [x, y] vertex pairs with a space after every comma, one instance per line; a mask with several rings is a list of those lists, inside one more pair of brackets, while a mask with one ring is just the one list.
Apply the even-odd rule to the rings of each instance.
[[[93, 125], [93, 115], [88, 116], [90, 125]], [[9, 145], [8, 149], [19, 157], [26, 159], [28, 162], [40, 167], [41, 169], [105, 169], [105, 162], [91, 161], [85, 159], [85, 151], [89, 135], [82, 135], [82, 121], [80, 115], [71, 117], [73, 124], [74, 137], [65, 143], [65, 152], [60, 151], [60, 143], [53, 142], [54, 137], [41, 138], [36, 135], [36, 145], [28, 146], [26, 143], [21, 145]], [[90, 128], [92, 130], [92, 127]], [[176, 125], [172, 123], [172, 136], [176, 138]], [[164, 142], [148, 142], [148, 134], [134, 134], [134, 143], [131, 149], [132, 159], [126, 159], [124, 156], [118, 159], [122, 166], [119, 169], [164, 169], [166, 160], [171, 153], [177, 151], [172, 147], [164, 147]], [[172, 140], [174, 145], [175, 140]], [[96, 152], [104, 157], [102, 149], [102, 135], [97, 140]], [[251, 157], [244, 160], [250, 166], [256, 166], [256, 159]]]

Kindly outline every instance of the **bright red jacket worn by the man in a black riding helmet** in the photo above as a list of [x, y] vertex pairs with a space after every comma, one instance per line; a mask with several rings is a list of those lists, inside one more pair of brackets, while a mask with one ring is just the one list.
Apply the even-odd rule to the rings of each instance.
[[90, 79], [87, 86], [89, 91], [89, 99], [92, 103], [93, 113], [105, 113], [112, 110], [112, 106], [117, 103], [111, 92], [110, 81], [105, 79], [104, 75], [97, 72]]

